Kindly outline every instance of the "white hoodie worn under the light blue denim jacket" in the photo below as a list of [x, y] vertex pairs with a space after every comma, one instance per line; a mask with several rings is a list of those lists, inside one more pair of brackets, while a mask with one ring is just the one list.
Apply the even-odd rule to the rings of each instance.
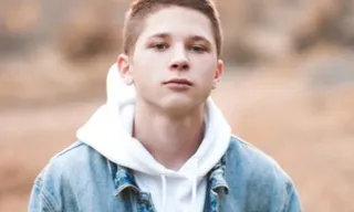
[[[205, 137], [196, 153], [178, 171], [156, 161], [134, 137], [134, 86], [123, 83], [116, 64], [107, 75], [107, 102], [81, 127], [77, 139], [111, 161], [134, 170], [142, 191], [149, 192], [158, 212], [202, 211], [207, 173], [226, 152], [231, 129], [211, 98], [207, 99]], [[157, 131], [158, 132], [158, 131]]]

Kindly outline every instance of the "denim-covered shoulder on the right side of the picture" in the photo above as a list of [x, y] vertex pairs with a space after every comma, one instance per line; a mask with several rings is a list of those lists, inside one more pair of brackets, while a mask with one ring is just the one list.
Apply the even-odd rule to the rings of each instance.
[[301, 211], [292, 179], [253, 145], [232, 136], [225, 165], [231, 197], [241, 200], [249, 211]]

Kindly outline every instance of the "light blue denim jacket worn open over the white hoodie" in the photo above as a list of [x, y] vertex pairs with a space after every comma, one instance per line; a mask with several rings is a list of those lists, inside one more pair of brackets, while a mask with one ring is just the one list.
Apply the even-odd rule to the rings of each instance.
[[[299, 212], [296, 190], [263, 152], [237, 137], [208, 174], [205, 212]], [[170, 205], [173, 206], [173, 205]], [[30, 212], [153, 212], [132, 170], [76, 141], [52, 158], [34, 181]]]

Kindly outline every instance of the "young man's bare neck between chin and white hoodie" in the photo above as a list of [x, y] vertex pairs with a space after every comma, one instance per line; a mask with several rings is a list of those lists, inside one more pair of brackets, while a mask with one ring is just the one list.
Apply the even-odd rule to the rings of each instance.
[[159, 163], [178, 170], [202, 140], [204, 115], [205, 105], [184, 115], [170, 116], [137, 103], [133, 136]]

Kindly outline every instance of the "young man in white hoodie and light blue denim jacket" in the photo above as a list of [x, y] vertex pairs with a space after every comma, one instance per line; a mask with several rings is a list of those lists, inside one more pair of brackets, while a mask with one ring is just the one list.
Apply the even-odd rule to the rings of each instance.
[[209, 98], [223, 64], [209, 0], [137, 0], [107, 103], [34, 182], [35, 211], [298, 212], [291, 179]]

